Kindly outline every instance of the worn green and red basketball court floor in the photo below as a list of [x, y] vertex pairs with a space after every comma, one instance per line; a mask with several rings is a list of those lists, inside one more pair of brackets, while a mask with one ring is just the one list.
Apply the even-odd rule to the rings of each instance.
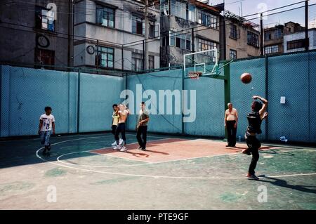
[[110, 133], [53, 137], [49, 155], [1, 140], [0, 209], [316, 209], [315, 148], [263, 144], [256, 181], [244, 143], [150, 134], [143, 152], [127, 138], [114, 152]]

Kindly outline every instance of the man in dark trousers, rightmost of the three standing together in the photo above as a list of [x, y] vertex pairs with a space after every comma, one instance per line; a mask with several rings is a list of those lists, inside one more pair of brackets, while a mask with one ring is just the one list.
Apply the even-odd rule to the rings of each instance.
[[[148, 112], [145, 109], [146, 105], [145, 102], [140, 103], [140, 112], [138, 116], [138, 121], [137, 121], [137, 127], [136, 127], [136, 138], [138, 140], [138, 150], [146, 150], [146, 142], [147, 142], [147, 124], [150, 119], [148, 116]], [[143, 136], [143, 140], [141, 138]]]

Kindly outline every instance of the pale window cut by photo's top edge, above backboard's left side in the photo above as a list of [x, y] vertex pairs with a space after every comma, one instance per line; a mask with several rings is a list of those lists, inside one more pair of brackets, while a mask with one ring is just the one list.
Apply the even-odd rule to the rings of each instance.
[[195, 22], [195, 6], [186, 2], [171, 0], [171, 15]]

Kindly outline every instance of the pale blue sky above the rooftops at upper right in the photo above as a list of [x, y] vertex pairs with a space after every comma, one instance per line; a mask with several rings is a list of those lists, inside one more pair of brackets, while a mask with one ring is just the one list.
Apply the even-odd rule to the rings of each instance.
[[[225, 0], [225, 9], [235, 13], [237, 15], [241, 14], [240, 8], [242, 4], [242, 15], [251, 15], [254, 13], [259, 13], [260, 11], [271, 10], [273, 8], [278, 8], [281, 6], [286, 6], [289, 4], [294, 4], [300, 2], [301, 0]], [[223, 3], [223, 0], [210, 0], [210, 4], [216, 5]], [[310, 0], [309, 5], [316, 4], [316, 0]], [[297, 8], [304, 6], [305, 3], [297, 4], [294, 6], [289, 6], [287, 8], [281, 8], [276, 11], [271, 11], [269, 13], [277, 13], [279, 11], [288, 10], [291, 8]], [[256, 18], [256, 16], [247, 17], [247, 19]], [[316, 19], [316, 5], [309, 7], [309, 22], [315, 21]], [[293, 11], [288, 11], [284, 13], [278, 13], [276, 15], [268, 15], [263, 24], [265, 27], [273, 27], [278, 23], [284, 24], [285, 22], [298, 22], [301, 25], [305, 25], [305, 9], [299, 8]], [[251, 22], [259, 23], [258, 19], [251, 20]]]

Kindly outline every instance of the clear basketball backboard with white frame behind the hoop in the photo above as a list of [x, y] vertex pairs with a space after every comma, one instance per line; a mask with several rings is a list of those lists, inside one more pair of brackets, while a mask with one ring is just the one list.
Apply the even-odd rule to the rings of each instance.
[[184, 78], [189, 79], [189, 72], [202, 72], [202, 77], [214, 77], [220, 74], [217, 48], [183, 55]]

